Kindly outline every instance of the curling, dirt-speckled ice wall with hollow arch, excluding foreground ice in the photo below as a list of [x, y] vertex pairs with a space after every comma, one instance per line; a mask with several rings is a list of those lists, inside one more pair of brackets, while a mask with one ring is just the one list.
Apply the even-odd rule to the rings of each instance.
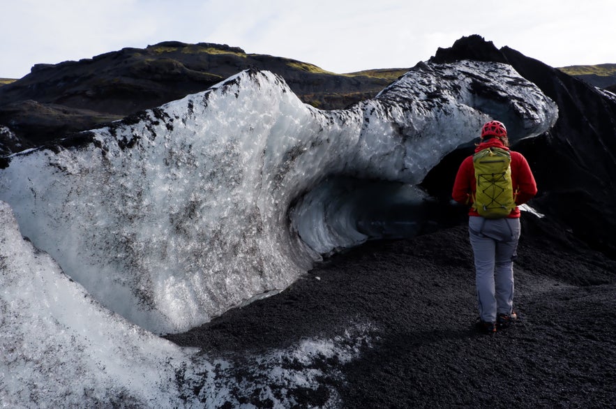
[[343, 194], [345, 180], [417, 184], [493, 118], [517, 140], [547, 131], [557, 107], [497, 63], [421, 63], [336, 111], [247, 70], [80, 144], [10, 157], [0, 200], [89, 295], [152, 332], [179, 332], [366, 239], [355, 220], [365, 195]]

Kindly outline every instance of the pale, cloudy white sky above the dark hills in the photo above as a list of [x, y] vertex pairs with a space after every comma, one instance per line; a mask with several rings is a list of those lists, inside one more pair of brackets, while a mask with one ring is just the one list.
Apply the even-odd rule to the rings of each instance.
[[161, 41], [334, 73], [409, 68], [479, 34], [553, 67], [616, 64], [613, 0], [0, 0], [0, 77]]

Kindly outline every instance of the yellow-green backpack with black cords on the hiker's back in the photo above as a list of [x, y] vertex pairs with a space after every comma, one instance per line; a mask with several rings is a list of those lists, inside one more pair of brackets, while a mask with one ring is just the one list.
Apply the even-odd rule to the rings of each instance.
[[480, 216], [502, 218], [516, 208], [510, 165], [511, 154], [506, 149], [486, 148], [473, 155], [477, 181], [473, 207]]

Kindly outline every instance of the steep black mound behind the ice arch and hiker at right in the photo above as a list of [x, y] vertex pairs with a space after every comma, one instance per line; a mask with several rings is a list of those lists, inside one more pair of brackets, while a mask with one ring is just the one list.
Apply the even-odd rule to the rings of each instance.
[[[527, 157], [539, 184], [533, 205], [557, 218], [589, 246], [616, 254], [616, 98], [509, 47], [498, 50], [480, 36], [439, 49], [433, 62], [471, 59], [511, 64], [558, 105], [553, 129], [514, 146]], [[446, 188], [469, 149], [449, 155], [424, 186], [446, 196]], [[443, 179], [445, 178], [445, 179]], [[448, 183], [442, 186], [443, 180]]]

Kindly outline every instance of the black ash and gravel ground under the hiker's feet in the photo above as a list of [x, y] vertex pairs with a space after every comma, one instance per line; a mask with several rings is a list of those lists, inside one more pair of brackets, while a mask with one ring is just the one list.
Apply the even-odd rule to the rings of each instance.
[[335, 255], [276, 296], [167, 338], [228, 359], [369, 323], [359, 357], [322, 362], [342, 377], [298, 392], [301, 407], [331, 402], [331, 391], [343, 408], [613, 407], [616, 261], [523, 214], [514, 269], [520, 318], [494, 335], [474, 328], [472, 251], [459, 226]]

